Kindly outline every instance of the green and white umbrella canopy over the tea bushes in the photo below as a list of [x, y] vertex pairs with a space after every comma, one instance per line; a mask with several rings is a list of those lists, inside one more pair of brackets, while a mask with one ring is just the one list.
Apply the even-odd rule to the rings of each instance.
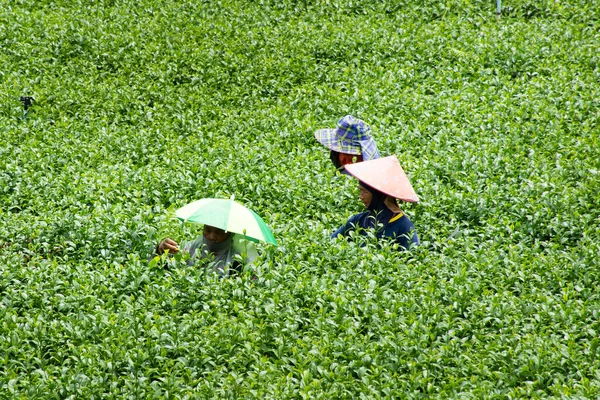
[[265, 221], [254, 211], [225, 199], [201, 199], [175, 211], [184, 222], [211, 225], [227, 232], [239, 233], [254, 241], [277, 244]]

